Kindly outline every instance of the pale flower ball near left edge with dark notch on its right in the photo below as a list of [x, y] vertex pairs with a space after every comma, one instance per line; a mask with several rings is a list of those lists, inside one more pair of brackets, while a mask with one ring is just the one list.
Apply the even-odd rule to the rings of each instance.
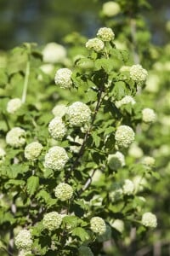
[[14, 127], [6, 135], [6, 143], [14, 148], [20, 148], [26, 143], [26, 131], [20, 127]]

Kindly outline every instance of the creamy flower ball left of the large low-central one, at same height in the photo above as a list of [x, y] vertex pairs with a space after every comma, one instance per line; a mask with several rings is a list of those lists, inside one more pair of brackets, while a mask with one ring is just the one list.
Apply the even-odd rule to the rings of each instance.
[[36, 160], [41, 152], [42, 144], [38, 142], [33, 142], [26, 146], [24, 154], [27, 160]]

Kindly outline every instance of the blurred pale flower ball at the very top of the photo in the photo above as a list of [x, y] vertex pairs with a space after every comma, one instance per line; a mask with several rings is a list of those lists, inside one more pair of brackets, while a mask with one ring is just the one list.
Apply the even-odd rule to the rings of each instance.
[[118, 15], [121, 11], [120, 5], [113, 1], [109, 1], [103, 4], [102, 12], [107, 17], [113, 17]]

